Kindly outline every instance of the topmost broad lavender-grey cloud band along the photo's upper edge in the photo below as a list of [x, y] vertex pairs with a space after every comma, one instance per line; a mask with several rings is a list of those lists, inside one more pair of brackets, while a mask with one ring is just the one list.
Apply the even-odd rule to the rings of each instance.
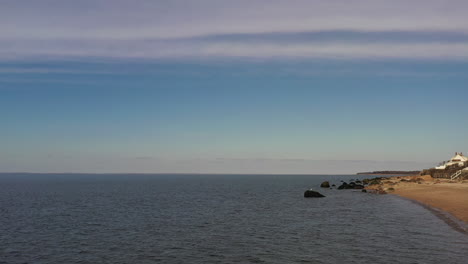
[[317, 30], [468, 31], [463, 0], [83, 0], [2, 4], [2, 36], [173, 38]]

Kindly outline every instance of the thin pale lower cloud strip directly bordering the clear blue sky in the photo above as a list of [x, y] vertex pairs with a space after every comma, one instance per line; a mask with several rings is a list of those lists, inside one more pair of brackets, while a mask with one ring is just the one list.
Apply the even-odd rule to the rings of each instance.
[[[31, 44], [30, 44], [31, 43]], [[0, 58], [108, 57], [108, 58], [414, 58], [468, 59], [468, 42], [386, 43], [290, 41], [34, 41], [5, 46]]]

